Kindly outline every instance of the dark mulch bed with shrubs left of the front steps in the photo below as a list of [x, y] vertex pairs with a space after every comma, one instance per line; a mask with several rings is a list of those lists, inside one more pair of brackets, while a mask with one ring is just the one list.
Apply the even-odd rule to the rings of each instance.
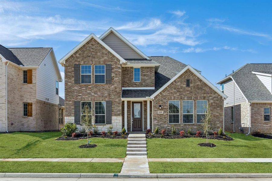
[[[110, 139], [126, 139], [128, 134], [126, 134], [124, 137], [122, 135], [91, 135], [89, 138], [110, 138]], [[70, 136], [61, 136], [57, 138], [57, 141], [70, 141], [70, 140], [79, 140], [79, 139], [87, 139], [86, 135], [78, 134], [76, 137], [70, 137]]]

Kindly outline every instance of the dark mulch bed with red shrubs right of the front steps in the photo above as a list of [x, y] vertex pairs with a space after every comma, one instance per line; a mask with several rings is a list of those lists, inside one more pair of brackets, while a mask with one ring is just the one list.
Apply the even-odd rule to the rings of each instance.
[[[165, 139], [205, 138], [206, 139], [206, 135], [205, 136], [196, 136], [196, 135], [184, 134], [183, 136], [180, 136], [179, 134], [176, 134], [176, 135], [165, 134], [164, 136], [161, 136], [160, 134], [156, 134], [156, 135], [146, 134], [146, 138], [165, 138]], [[209, 135], [208, 139], [217, 139], [217, 140], [224, 140], [224, 141], [232, 141], [233, 140], [231, 137], [228, 137], [226, 135], [222, 135], [222, 136]]]

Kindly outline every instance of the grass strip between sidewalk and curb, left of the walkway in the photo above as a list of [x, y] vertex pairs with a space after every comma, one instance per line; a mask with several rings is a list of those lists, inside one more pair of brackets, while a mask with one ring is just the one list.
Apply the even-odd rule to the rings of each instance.
[[120, 173], [123, 163], [2, 161], [0, 173]]

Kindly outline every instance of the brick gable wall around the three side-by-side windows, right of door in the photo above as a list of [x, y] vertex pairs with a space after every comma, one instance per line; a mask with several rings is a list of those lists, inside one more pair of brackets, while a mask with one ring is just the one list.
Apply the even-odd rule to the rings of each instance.
[[[186, 87], [186, 79], [190, 78], [190, 87]], [[180, 123], [168, 123], [168, 100], [180, 101]], [[194, 100], [194, 123], [182, 123], [182, 100]], [[197, 124], [196, 115], [196, 101], [208, 100], [210, 104], [213, 119], [211, 121], [211, 130], [218, 131], [223, 128], [223, 99], [211, 87], [204, 83], [190, 70], [186, 70], [174, 82], [160, 92], [153, 101], [153, 130], [158, 127], [159, 130], [165, 129], [167, 132], [171, 131], [171, 126], [174, 125], [177, 132], [187, 131], [191, 128], [192, 132], [203, 132], [202, 124]], [[162, 109], [159, 109], [159, 105]], [[163, 111], [163, 114], [157, 114], [158, 111]]]

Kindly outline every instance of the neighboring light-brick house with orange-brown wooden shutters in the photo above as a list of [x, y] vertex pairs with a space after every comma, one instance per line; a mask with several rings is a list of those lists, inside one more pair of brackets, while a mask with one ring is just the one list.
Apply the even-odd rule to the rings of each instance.
[[0, 132], [58, 130], [61, 81], [52, 48], [0, 45]]

